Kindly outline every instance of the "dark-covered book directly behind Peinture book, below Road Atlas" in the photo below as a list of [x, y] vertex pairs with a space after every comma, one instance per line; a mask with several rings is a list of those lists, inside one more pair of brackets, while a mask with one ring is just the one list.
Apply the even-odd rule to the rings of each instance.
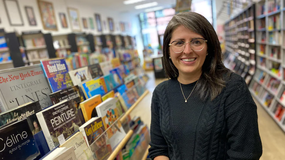
[[83, 95], [80, 95], [78, 86], [72, 86], [66, 89], [59, 90], [57, 92], [51, 93], [49, 96], [53, 105], [64, 100], [74, 100], [77, 103], [83, 101]]

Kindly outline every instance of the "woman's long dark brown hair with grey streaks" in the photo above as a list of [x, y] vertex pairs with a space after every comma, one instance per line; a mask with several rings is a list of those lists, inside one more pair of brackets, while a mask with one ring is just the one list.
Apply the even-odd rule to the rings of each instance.
[[220, 42], [213, 26], [202, 15], [195, 12], [182, 12], [173, 16], [168, 23], [163, 38], [163, 64], [166, 75], [171, 79], [179, 75], [178, 69], [169, 59], [168, 44], [170, 44], [173, 31], [181, 25], [208, 40], [208, 55], [202, 66], [202, 75], [196, 86], [196, 91], [199, 91], [202, 100], [208, 96], [214, 100], [225, 87], [225, 79], [229, 77], [231, 71], [222, 63]]

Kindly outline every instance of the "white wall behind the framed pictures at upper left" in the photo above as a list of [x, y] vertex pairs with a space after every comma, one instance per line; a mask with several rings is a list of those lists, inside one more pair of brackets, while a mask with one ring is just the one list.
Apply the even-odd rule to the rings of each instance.
[[[109, 33], [109, 26], [107, 23], [107, 17], [111, 17], [114, 20], [114, 26], [115, 26], [114, 27], [114, 29], [115, 29], [114, 34], [120, 33], [120, 31], [117, 30], [117, 28], [119, 29], [119, 22], [122, 21], [122, 22], [130, 22], [131, 23], [131, 20], [129, 20], [125, 17], [122, 17], [119, 12], [116, 12], [116, 11], [110, 10], [110, 9], [106, 9], [106, 8], [102, 8], [102, 7], [100, 8], [100, 7], [97, 7], [94, 4], [91, 4], [88, 2], [82, 2], [80, 0], [78, 0], [78, 1], [45, 0], [45, 1], [50, 1], [53, 3], [58, 31], [47, 31], [47, 30], [43, 29], [37, 0], [18, 0], [20, 12], [22, 14], [23, 22], [24, 22], [23, 26], [10, 26], [9, 20], [8, 20], [8, 17], [6, 14], [6, 10], [4, 7], [4, 2], [3, 2], [3, 0], [0, 0], [0, 19], [1, 19], [0, 28], [4, 28], [6, 32], [17, 31], [18, 33], [21, 33], [22, 31], [42, 30], [43, 33], [52, 33], [53, 35], [68, 34], [68, 33], [72, 32], [72, 29], [71, 29], [70, 22], [69, 22], [67, 7], [72, 7], [72, 8], [78, 9], [82, 32], [92, 33], [94, 35], [101, 34], [101, 33], [98, 33], [97, 29], [96, 29], [96, 22], [95, 22], [95, 17], [94, 17], [95, 13], [98, 13], [101, 15], [102, 28], [103, 28], [102, 33], [106, 33], [106, 34]], [[26, 12], [25, 12], [25, 6], [33, 7], [35, 17], [37, 20], [37, 26], [30, 26], [29, 25], [28, 18], [27, 18]], [[66, 14], [68, 28], [62, 28], [61, 23], [60, 23], [60, 19], [59, 19], [59, 15], [58, 15], [59, 12], [64, 12]], [[87, 19], [88, 29], [83, 28], [82, 17], [85, 17]], [[94, 22], [94, 26], [95, 26], [94, 30], [90, 29], [89, 20], [88, 20], [89, 17], [93, 18], [93, 22]], [[104, 21], [106, 23], [107, 29], [104, 28]], [[132, 35], [132, 31], [130, 30], [130, 31], [128, 31], [126, 33], [122, 33], [122, 34]]]

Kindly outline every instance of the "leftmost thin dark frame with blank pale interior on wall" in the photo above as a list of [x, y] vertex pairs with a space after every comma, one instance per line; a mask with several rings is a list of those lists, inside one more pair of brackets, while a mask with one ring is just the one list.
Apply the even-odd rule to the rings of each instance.
[[17, 0], [4, 0], [4, 6], [11, 26], [23, 26], [23, 17]]

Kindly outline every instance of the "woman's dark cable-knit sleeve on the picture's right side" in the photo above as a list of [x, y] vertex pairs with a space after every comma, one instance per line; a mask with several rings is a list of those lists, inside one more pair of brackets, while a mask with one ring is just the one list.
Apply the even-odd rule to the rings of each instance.
[[[246, 82], [240, 76], [227, 86], [225, 120], [227, 159], [257, 160], [262, 155], [262, 144], [257, 124], [257, 106], [251, 97]], [[226, 91], [226, 92], [227, 92]]]

